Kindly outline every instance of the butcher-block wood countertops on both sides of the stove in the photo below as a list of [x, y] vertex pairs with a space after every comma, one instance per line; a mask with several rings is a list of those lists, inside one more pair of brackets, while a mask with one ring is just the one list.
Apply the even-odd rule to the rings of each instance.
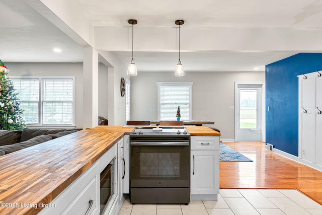
[[[207, 127], [195, 127], [187, 127], [191, 136], [220, 135]], [[107, 153], [115, 150], [117, 156], [116, 144], [133, 129], [98, 126], [0, 157], [0, 214], [37, 214], [44, 207], [46, 211], [60, 207], [52, 204], [55, 198]], [[99, 209], [93, 214], [99, 214]]]

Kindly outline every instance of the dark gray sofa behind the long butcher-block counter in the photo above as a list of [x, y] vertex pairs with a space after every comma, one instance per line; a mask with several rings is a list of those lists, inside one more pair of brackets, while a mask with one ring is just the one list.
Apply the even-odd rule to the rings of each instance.
[[82, 129], [24, 128], [22, 130], [0, 130], [0, 156], [41, 144], [78, 130]]

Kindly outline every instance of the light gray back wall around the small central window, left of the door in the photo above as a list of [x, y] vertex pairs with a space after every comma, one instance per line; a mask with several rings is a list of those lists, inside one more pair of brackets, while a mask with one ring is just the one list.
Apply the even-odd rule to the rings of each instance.
[[131, 120], [157, 119], [156, 82], [193, 82], [192, 120], [211, 120], [221, 131], [221, 138], [234, 138], [234, 82], [265, 82], [264, 71], [250, 72], [139, 72], [131, 77]]

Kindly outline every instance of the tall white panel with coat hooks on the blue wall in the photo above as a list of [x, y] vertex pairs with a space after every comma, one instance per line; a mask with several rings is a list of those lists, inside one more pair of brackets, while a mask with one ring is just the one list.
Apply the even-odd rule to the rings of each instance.
[[322, 77], [319, 73], [298, 76], [298, 157], [321, 169]]

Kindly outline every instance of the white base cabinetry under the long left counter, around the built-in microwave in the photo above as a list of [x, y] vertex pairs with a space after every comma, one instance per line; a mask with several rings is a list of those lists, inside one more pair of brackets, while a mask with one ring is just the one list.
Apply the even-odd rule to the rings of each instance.
[[118, 214], [124, 201], [123, 182], [121, 180], [124, 176], [123, 149], [123, 138], [121, 138], [117, 144], [99, 158], [86, 172], [50, 202], [50, 205], [55, 205], [55, 207], [44, 208], [38, 214], [100, 214], [101, 172], [112, 161], [114, 161], [112, 174], [115, 183], [113, 189], [111, 189], [110, 200], [103, 215]]

